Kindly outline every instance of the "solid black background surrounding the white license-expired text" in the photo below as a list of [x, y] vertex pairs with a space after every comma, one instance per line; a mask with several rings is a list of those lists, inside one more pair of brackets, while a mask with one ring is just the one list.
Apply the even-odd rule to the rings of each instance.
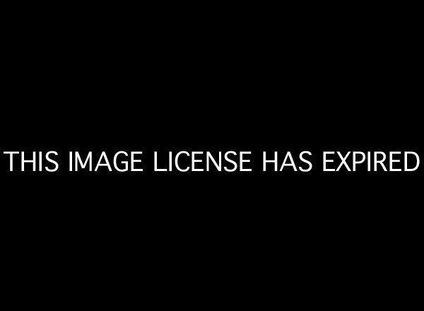
[[[325, 174], [320, 154], [422, 156], [418, 20], [175, 9], [20, 8], [2, 39], [1, 151], [252, 150], [255, 172], [3, 170], [8, 292], [119, 305], [414, 295], [422, 168]], [[310, 174], [260, 172], [261, 151], [302, 150]]]

